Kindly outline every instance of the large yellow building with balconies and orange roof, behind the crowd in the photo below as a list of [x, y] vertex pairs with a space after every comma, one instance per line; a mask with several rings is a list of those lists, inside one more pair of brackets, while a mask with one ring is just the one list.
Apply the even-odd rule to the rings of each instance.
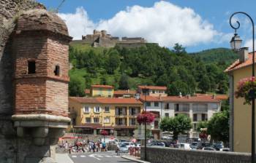
[[102, 129], [116, 136], [132, 136], [143, 103], [135, 98], [69, 98], [72, 126], [87, 134]]

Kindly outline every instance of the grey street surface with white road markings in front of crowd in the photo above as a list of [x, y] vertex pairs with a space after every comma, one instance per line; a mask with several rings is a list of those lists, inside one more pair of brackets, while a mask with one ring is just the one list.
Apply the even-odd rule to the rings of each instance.
[[[95, 153], [82, 153], [82, 154], [70, 154], [69, 157], [74, 163], [98, 163], [98, 162], [131, 162], [127, 159], [123, 159], [120, 156], [116, 156], [115, 151], [107, 152], [95, 152]], [[134, 162], [131, 162], [134, 163]]]

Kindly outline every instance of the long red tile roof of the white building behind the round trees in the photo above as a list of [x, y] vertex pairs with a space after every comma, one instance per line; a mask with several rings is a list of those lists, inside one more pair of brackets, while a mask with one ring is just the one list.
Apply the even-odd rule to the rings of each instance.
[[184, 102], [184, 103], [197, 103], [197, 102], [209, 102], [209, 103], [219, 103], [220, 100], [213, 98], [212, 95], [205, 96], [191, 96], [191, 97], [179, 97], [179, 96], [167, 96], [162, 97], [163, 101], [170, 102]]

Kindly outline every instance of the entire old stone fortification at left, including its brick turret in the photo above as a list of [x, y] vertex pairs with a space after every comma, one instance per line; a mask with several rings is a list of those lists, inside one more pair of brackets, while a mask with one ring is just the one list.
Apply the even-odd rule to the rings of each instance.
[[1, 163], [55, 162], [70, 121], [70, 40], [63, 20], [42, 4], [0, 0]]

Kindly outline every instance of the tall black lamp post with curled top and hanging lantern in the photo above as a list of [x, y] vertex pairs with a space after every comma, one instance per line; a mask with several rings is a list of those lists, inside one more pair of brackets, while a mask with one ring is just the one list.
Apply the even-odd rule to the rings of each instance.
[[[235, 12], [233, 15], [230, 16], [230, 26], [235, 30], [235, 35], [230, 41], [231, 48], [238, 51], [241, 48], [241, 39], [236, 33], [236, 30], [240, 28], [240, 23], [236, 21], [237, 26], [232, 25], [232, 18], [236, 14], [242, 14], [249, 17], [249, 20], [251, 20], [252, 23], [252, 76], [255, 76], [255, 23], [252, 20], [252, 17], [250, 17], [246, 12]], [[255, 92], [250, 91], [249, 92], [251, 99], [252, 99], [252, 159], [251, 162], [255, 163]]]

